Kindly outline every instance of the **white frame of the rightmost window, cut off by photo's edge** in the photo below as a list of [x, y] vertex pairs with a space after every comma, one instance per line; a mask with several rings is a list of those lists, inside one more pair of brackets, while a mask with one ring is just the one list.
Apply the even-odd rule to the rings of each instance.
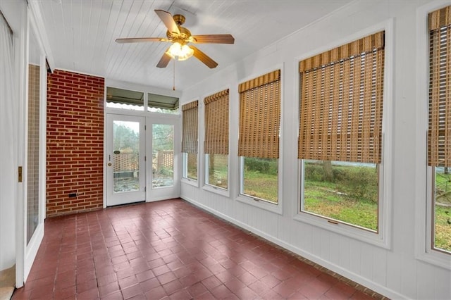
[[425, 4], [416, 9], [416, 184], [415, 184], [415, 256], [416, 259], [451, 270], [451, 255], [433, 249], [434, 168], [428, 161], [428, 86], [429, 28], [428, 14], [449, 6], [449, 1]]

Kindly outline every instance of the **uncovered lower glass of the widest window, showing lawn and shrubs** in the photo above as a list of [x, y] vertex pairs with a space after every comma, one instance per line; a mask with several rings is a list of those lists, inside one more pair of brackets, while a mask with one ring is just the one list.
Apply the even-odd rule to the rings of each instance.
[[378, 165], [304, 160], [302, 210], [378, 231]]

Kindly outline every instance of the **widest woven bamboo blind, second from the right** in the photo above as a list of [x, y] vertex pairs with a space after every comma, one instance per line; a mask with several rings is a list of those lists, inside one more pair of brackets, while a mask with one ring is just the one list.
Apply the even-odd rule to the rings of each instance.
[[381, 162], [384, 32], [299, 63], [298, 158]]

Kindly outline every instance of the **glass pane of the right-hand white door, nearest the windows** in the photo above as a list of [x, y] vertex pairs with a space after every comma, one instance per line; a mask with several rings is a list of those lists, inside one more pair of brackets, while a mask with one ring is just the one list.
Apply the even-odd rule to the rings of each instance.
[[152, 125], [152, 187], [174, 185], [174, 125]]

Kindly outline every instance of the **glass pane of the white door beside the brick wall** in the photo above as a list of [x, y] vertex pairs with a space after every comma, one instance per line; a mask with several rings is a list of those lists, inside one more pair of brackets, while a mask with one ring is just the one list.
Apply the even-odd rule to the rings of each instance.
[[140, 123], [113, 121], [113, 192], [140, 190]]

